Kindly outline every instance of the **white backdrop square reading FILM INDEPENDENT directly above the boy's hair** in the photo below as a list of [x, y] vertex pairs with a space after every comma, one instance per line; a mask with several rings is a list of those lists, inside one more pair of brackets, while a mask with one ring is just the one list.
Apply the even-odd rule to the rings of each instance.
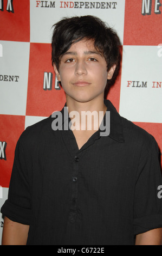
[[30, 41], [51, 42], [51, 27], [63, 17], [94, 15], [124, 35], [125, 0], [33, 1], [30, 0]]

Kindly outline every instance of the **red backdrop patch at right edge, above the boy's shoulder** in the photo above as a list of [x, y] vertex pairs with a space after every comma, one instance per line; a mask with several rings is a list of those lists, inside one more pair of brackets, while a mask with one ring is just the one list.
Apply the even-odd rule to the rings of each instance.
[[[140, 126], [142, 129], [150, 133], [158, 143], [159, 149], [162, 154], [162, 124], [160, 123], [138, 123], [133, 122], [134, 124]], [[162, 167], [162, 157], [161, 157], [161, 167]]]

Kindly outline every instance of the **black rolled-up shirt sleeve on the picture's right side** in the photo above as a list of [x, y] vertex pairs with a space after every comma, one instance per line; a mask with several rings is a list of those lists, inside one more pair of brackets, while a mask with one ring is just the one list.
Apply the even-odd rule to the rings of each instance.
[[162, 227], [162, 199], [158, 197], [158, 187], [162, 185], [159, 148], [152, 136], [142, 152], [135, 184], [134, 235]]

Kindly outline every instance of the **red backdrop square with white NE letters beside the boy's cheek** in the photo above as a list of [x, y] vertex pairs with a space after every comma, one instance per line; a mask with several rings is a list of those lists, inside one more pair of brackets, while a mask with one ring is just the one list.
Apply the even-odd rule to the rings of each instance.
[[[48, 89], [43, 88], [44, 73], [52, 77]], [[50, 44], [30, 43], [26, 115], [48, 117], [54, 111], [60, 111], [65, 102], [66, 96], [63, 89], [55, 89], [55, 72], [51, 65]]]

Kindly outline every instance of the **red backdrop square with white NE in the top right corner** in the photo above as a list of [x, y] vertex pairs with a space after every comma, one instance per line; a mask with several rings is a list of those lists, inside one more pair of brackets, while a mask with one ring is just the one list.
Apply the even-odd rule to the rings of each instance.
[[161, 43], [162, 7], [160, 2], [125, 0], [124, 45], [155, 46]]

